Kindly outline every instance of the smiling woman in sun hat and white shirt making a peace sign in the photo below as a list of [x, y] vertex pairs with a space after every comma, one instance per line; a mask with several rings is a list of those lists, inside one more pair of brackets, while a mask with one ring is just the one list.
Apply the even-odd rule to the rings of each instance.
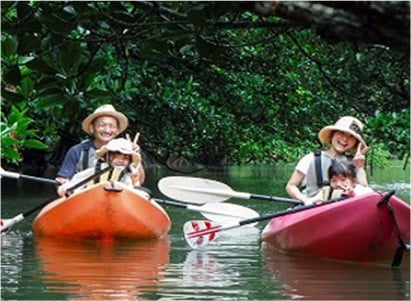
[[[351, 116], [341, 117], [334, 125], [326, 126], [318, 133], [323, 144], [329, 145], [324, 151], [305, 155], [298, 163], [288, 180], [286, 191], [295, 199], [311, 204], [312, 197], [318, 195], [323, 186], [329, 185], [328, 168], [334, 159], [347, 158], [354, 154], [353, 162], [357, 167], [357, 181], [368, 186], [364, 170], [365, 153], [368, 146], [362, 138], [363, 124]], [[304, 193], [300, 185], [304, 186]]]

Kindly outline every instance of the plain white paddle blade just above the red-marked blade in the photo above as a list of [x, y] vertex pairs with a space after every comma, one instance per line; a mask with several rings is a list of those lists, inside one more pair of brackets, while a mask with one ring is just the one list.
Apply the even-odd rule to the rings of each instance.
[[[201, 214], [208, 220], [226, 225], [260, 216], [251, 208], [230, 203], [210, 203], [201, 206]], [[254, 226], [257, 223], [247, 226]]]

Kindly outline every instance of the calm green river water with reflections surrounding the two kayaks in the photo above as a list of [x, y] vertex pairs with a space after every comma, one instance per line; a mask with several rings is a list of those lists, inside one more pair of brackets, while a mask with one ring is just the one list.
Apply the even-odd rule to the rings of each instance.
[[[286, 197], [292, 165], [209, 168], [189, 176], [222, 181], [236, 191]], [[148, 170], [147, 187], [177, 175]], [[181, 174], [178, 174], [181, 176]], [[2, 179], [8, 218], [54, 194], [48, 184]], [[391, 165], [369, 177], [376, 190], [395, 189], [410, 202], [410, 173]], [[238, 200], [259, 213], [287, 206]], [[70, 242], [33, 237], [33, 217], [1, 238], [2, 300], [410, 300], [410, 257], [400, 268], [283, 254], [260, 241], [265, 222], [225, 231], [204, 249], [191, 250], [182, 225], [199, 213], [165, 206], [172, 220], [166, 239], [146, 242]]]

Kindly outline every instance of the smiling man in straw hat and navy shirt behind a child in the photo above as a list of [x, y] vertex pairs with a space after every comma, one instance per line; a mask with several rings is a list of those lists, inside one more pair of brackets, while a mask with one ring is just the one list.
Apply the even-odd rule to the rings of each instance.
[[[71, 179], [76, 172], [95, 166], [97, 163], [96, 149], [117, 137], [127, 127], [127, 117], [116, 111], [112, 105], [106, 104], [98, 107], [82, 122], [82, 128], [90, 135], [90, 138], [69, 149], [60, 170], [57, 172], [56, 180], [64, 183]], [[134, 140], [135, 146], [137, 146], [137, 138], [138, 135]]]

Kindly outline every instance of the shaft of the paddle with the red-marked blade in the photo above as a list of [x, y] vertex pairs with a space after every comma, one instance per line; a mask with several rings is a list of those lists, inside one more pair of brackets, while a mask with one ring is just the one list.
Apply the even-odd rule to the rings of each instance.
[[272, 219], [272, 218], [276, 218], [276, 217], [280, 217], [280, 216], [285, 216], [285, 215], [297, 213], [297, 212], [300, 212], [300, 211], [309, 210], [309, 209], [312, 209], [312, 208], [318, 208], [318, 207], [321, 207], [321, 206], [325, 206], [325, 205], [329, 205], [329, 204], [338, 202], [340, 200], [342, 200], [342, 199], [339, 198], [339, 199], [327, 201], [325, 203], [321, 203], [321, 204], [318, 204], [318, 205], [317, 204], [312, 204], [312, 205], [297, 207], [297, 208], [290, 209], [290, 210], [283, 210], [283, 211], [280, 211], [280, 212], [269, 213], [269, 214], [265, 214], [265, 215], [262, 215], [262, 216], [259, 216], [259, 217], [245, 219], [245, 220], [239, 221], [235, 224], [231, 224], [231, 225], [227, 225], [227, 226], [218, 225], [218, 226], [214, 226], [214, 227], [211, 227], [211, 228], [208, 228], [208, 229], [188, 233], [188, 237], [190, 237], [190, 238], [200, 237], [200, 236], [203, 236], [203, 235], [208, 235], [208, 234], [212, 234], [212, 233], [216, 233], [216, 232], [230, 230], [230, 229], [238, 228], [238, 227], [245, 226], [245, 225], [252, 224], [252, 223], [256, 223], [256, 222], [261, 222], [261, 221], [264, 221], [264, 220], [268, 220], [268, 219]]

